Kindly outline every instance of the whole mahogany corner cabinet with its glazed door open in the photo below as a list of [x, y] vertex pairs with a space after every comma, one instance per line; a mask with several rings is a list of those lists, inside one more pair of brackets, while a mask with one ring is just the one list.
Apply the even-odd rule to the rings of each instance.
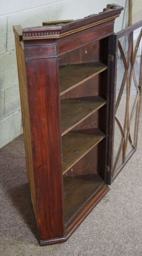
[[114, 34], [122, 10], [13, 27], [40, 245], [66, 241], [136, 149], [142, 70], [133, 30], [142, 22]]

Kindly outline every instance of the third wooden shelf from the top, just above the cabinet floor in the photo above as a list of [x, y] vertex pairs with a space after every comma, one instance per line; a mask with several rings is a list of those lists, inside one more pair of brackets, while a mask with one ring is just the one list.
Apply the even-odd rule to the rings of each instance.
[[105, 138], [99, 129], [68, 132], [62, 137], [63, 174]]

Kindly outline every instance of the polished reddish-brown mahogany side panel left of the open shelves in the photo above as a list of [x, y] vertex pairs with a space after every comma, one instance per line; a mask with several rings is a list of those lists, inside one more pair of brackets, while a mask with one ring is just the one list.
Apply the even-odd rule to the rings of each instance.
[[26, 70], [38, 230], [47, 240], [64, 236], [57, 58], [27, 59]]

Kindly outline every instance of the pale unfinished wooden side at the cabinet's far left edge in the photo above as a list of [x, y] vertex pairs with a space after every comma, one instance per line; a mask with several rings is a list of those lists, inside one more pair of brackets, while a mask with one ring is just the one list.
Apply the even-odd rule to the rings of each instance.
[[32, 197], [33, 209], [37, 221], [37, 203], [36, 203], [36, 191], [35, 191], [35, 178], [33, 172], [33, 154], [32, 154], [32, 140], [31, 140], [31, 128], [29, 118], [29, 105], [28, 105], [28, 91], [27, 91], [27, 77], [25, 70], [25, 57], [24, 49], [21, 47], [19, 40], [15, 37], [16, 55], [17, 55], [17, 68], [19, 76], [19, 89], [21, 100], [21, 112], [23, 120], [23, 133], [25, 144], [25, 155], [27, 165], [27, 175], [29, 181], [29, 188]]

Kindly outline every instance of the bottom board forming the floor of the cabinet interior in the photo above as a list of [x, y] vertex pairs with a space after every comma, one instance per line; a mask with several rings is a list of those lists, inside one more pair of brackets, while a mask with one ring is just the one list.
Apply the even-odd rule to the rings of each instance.
[[64, 218], [66, 227], [80, 214], [104, 185], [98, 174], [64, 177]]

